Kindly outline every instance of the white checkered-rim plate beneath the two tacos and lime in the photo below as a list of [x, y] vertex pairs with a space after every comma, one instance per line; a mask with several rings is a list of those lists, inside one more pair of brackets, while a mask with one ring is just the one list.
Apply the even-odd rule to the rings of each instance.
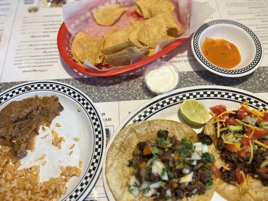
[[[181, 113], [179, 112], [181, 104], [186, 99], [194, 98], [200, 100], [209, 110], [210, 107], [223, 104], [228, 109], [237, 109], [240, 107], [240, 103], [248, 100], [249, 107], [255, 109], [268, 109], [268, 100], [264, 100], [262, 97], [251, 93], [249, 91], [241, 90], [233, 87], [226, 86], [192, 86], [181, 89], [176, 89], [172, 93], [158, 95], [139, 108], [134, 110], [116, 129], [113, 137], [110, 139], [105, 158], [103, 162], [103, 178], [106, 194], [109, 200], [115, 200], [109, 186], [106, 182], [105, 167], [106, 167], [106, 155], [109, 151], [109, 147], [113, 143], [115, 136], [120, 130], [135, 122], [154, 120], [154, 119], [166, 119], [182, 122], [193, 128], [197, 133], [201, 132], [202, 126], [191, 125], [184, 121]], [[212, 200], [225, 200], [218, 193], [214, 193]]]

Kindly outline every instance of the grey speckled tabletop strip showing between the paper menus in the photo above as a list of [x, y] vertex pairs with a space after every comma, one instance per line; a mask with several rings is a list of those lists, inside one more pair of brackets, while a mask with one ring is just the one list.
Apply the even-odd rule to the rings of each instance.
[[[207, 70], [181, 72], [181, 75], [182, 81], [178, 88], [196, 85], [225, 85], [254, 93], [268, 92], [268, 67], [259, 67], [254, 73], [238, 78], [218, 76]], [[79, 88], [94, 102], [150, 99], [155, 96], [145, 86], [141, 75], [59, 79], [57, 81]], [[0, 91], [20, 83], [23, 82], [1, 83]]]

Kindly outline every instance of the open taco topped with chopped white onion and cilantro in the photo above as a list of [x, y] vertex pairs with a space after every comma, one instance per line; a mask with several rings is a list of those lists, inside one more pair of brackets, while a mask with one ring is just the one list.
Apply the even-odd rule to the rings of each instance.
[[[202, 137], [202, 136], [200, 136]], [[198, 142], [189, 126], [169, 120], [122, 129], [106, 158], [106, 180], [115, 200], [211, 200], [211, 163], [205, 136]]]

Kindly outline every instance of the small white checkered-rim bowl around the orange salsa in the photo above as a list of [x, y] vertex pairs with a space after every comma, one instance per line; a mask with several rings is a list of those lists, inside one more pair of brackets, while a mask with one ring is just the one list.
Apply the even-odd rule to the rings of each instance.
[[[209, 62], [202, 53], [206, 37], [227, 40], [238, 48], [241, 62], [225, 69]], [[200, 27], [192, 38], [192, 51], [197, 61], [207, 70], [224, 77], [241, 77], [255, 71], [263, 59], [263, 47], [258, 37], [248, 27], [231, 20], [215, 20]]]

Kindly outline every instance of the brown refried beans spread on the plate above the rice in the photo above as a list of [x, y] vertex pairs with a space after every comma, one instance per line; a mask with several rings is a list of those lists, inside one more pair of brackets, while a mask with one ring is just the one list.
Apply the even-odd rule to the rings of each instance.
[[0, 112], [0, 144], [13, 148], [13, 162], [30, 149], [40, 126], [50, 126], [63, 107], [57, 96], [34, 96], [11, 102]]

